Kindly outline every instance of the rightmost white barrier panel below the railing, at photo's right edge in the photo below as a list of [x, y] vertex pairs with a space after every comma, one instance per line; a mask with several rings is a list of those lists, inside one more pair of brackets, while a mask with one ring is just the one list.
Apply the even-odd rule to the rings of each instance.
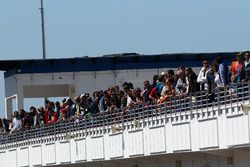
[[248, 116], [239, 115], [227, 118], [228, 145], [249, 143]]

